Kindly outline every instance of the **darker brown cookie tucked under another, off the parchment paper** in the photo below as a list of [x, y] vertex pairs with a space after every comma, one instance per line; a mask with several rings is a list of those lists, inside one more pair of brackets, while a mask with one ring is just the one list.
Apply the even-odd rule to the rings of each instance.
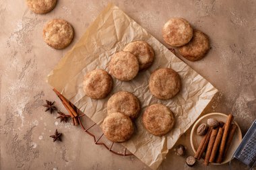
[[188, 60], [200, 60], [210, 50], [210, 40], [203, 32], [194, 30], [192, 40], [185, 46], [179, 47], [178, 50]]

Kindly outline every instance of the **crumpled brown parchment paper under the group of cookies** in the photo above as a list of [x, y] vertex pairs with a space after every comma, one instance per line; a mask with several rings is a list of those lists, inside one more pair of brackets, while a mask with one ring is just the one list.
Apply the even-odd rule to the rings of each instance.
[[[154, 64], [132, 81], [113, 79], [114, 88], [110, 95], [117, 91], [129, 91], [141, 101], [141, 114], [135, 121], [137, 130], [129, 141], [122, 144], [143, 163], [157, 169], [168, 149], [172, 148], [178, 138], [195, 122], [218, 90], [174, 56], [121, 9], [112, 4], [108, 5], [89, 26], [84, 36], [51, 71], [47, 81], [94, 122], [101, 124], [106, 117], [106, 103], [110, 95], [100, 100], [86, 97], [83, 91], [84, 75], [96, 68], [108, 71], [110, 56], [134, 40], [146, 41], [154, 48]], [[166, 101], [156, 99], [148, 88], [150, 73], [161, 67], [174, 69], [182, 80], [179, 94]], [[174, 112], [176, 123], [166, 136], [154, 136], [141, 124], [143, 111], [153, 103], [162, 103]]]

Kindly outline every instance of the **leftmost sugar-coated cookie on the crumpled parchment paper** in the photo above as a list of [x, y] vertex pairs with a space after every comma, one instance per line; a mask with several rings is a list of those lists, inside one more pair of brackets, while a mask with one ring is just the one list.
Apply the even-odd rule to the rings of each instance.
[[84, 77], [84, 93], [92, 99], [102, 99], [113, 86], [110, 75], [102, 69], [90, 71]]

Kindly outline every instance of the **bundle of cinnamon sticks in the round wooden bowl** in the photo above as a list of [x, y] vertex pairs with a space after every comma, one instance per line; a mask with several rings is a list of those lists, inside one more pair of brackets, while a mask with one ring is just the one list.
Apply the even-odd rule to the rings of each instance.
[[236, 125], [232, 124], [233, 119], [234, 116], [229, 114], [223, 127], [208, 129], [197, 148], [195, 159], [200, 160], [205, 153], [204, 165], [222, 163], [236, 131]]

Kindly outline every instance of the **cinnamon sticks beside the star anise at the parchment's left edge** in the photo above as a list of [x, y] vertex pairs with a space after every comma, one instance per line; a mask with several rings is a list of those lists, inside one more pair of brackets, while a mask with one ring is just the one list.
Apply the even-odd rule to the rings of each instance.
[[75, 105], [73, 105], [70, 101], [68, 101], [63, 95], [61, 95], [61, 93], [59, 93], [59, 91], [57, 91], [56, 89], [53, 89], [53, 91], [55, 91], [55, 93], [57, 94], [57, 96], [59, 97], [59, 99], [61, 99], [61, 102], [63, 103], [64, 107], [66, 108], [67, 112], [69, 112], [69, 115], [71, 116], [72, 120], [73, 120], [73, 125], [77, 126], [79, 124], [79, 121], [77, 120], [77, 111], [75, 108]]

